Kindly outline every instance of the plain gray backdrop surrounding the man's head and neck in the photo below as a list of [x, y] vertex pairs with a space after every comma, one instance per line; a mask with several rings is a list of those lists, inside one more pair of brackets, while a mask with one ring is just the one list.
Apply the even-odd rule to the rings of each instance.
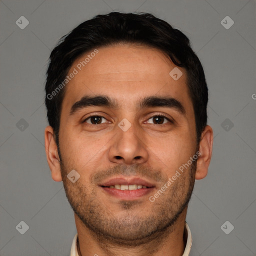
[[[44, 152], [47, 58], [62, 35], [112, 10], [168, 21], [190, 38], [204, 67], [214, 142], [208, 175], [196, 180], [189, 203], [191, 255], [255, 255], [253, 0], [0, 1], [0, 255], [69, 255], [73, 213]], [[29, 21], [24, 29], [15, 23], [22, 15]], [[220, 23], [227, 15], [234, 21], [229, 29]], [[15, 228], [21, 220], [29, 226], [24, 234]], [[234, 226], [229, 234], [220, 228], [226, 220]]]

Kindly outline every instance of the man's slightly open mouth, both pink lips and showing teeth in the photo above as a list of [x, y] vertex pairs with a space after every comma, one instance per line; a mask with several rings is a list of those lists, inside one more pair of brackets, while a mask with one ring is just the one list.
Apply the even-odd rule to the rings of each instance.
[[103, 191], [110, 196], [122, 200], [134, 200], [150, 193], [155, 185], [138, 177], [116, 177], [99, 184]]

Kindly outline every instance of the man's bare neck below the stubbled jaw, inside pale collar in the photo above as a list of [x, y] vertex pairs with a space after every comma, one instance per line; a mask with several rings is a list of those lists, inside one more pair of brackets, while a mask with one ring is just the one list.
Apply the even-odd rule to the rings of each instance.
[[78, 234], [78, 254], [79, 256], [181, 256], [184, 252], [187, 239], [186, 233], [184, 232], [186, 210], [187, 208], [183, 210], [173, 225], [158, 233], [152, 234], [150, 240], [147, 237], [147, 242], [141, 241], [139, 244], [136, 241], [135, 246], [125, 246], [106, 237], [100, 237], [99, 234], [94, 233], [84, 226], [75, 214], [75, 224]]

